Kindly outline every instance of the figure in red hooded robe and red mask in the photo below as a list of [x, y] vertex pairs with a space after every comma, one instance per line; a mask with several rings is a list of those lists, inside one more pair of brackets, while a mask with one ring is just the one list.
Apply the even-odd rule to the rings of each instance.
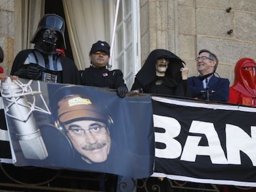
[[236, 63], [235, 78], [229, 88], [229, 102], [256, 106], [256, 62], [242, 58]]

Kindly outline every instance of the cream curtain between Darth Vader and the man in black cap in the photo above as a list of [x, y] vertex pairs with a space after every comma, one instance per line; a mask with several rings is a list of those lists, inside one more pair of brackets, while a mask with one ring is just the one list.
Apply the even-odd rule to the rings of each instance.
[[108, 2], [63, 0], [74, 62], [79, 69], [90, 66], [89, 52], [98, 40], [109, 42]]

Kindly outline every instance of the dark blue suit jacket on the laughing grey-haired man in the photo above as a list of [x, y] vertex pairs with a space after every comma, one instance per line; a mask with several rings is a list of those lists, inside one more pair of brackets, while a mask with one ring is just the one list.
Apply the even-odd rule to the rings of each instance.
[[[228, 78], [220, 78], [213, 75], [208, 83], [209, 101], [227, 102], [229, 98], [229, 80]], [[189, 77], [187, 80], [187, 94], [191, 98], [206, 100], [205, 88], [203, 81], [198, 77]]]

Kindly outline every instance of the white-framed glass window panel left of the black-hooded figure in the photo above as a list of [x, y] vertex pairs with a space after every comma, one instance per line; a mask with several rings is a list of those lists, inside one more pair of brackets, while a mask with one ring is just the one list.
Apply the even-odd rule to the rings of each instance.
[[140, 68], [140, 20], [137, 0], [120, 1], [111, 64], [113, 69], [122, 70], [130, 90], [135, 74]]

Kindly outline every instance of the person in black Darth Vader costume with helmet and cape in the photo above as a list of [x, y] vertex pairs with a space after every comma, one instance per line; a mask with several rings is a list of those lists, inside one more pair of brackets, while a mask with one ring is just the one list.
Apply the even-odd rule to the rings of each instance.
[[30, 43], [34, 49], [20, 51], [14, 59], [11, 75], [53, 83], [79, 84], [74, 62], [56, 49], [66, 49], [65, 22], [59, 15], [45, 14]]

